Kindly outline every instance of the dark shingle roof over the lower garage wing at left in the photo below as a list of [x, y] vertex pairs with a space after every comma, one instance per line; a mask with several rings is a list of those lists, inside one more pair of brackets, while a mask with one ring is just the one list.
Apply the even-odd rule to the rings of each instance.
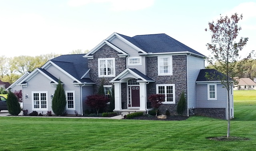
[[83, 57], [84, 55], [85, 54], [61, 55], [51, 61], [80, 82], [94, 83], [91, 79], [82, 78], [82, 76], [89, 70], [88, 60]]

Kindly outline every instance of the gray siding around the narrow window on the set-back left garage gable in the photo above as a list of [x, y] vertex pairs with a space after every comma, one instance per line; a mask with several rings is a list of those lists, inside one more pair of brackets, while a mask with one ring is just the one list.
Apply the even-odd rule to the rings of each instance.
[[[69, 76], [62, 73], [59, 69], [51, 65], [46, 69], [49, 73], [51, 73], [56, 78], [59, 78], [64, 84], [63, 88], [65, 91], [75, 91], [75, 109], [78, 114], [82, 114], [81, 112], [81, 98], [80, 98], [80, 86], [74, 86], [74, 80]], [[74, 110], [66, 110], [67, 114], [74, 114]]]

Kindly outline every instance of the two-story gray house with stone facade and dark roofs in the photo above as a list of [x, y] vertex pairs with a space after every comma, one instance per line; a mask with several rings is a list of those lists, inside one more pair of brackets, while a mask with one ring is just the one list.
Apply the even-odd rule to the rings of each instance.
[[24, 109], [29, 112], [51, 110], [51, 97], [60, 78], [66, 90], [68, 114], [74, 114], [74, 110], [82, 114], [88, 108], [86, 96], [97, 93], [104, 78], [106, 92], [114, 85], [116, 112], [147, 112], [151, 109], [148, 96], [164, 94], [160, 112], [177, 114], [184, 91], [184, 115], [198, 113], [227, 119], [227, 93], [220, 81], [202, 76], [211, 72], [204, 70], [204, 58], [166, 34], [128, 37], [113, 33], [85, 55], [62, 55], [48, 61], [18, 85], [27, 96]]

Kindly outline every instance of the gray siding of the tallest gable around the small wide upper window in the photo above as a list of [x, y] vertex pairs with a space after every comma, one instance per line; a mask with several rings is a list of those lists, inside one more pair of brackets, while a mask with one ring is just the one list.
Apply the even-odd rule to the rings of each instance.
[[[110, 42], [113, 43], [114, 45], [116, 45], [121, 50], [128, 53], [130, 55], [129, 57], [140, 57], [138, 55], [138, 51], [136, 49], [134, 49], [130, 45], [124, 43], [122, 40], [118, 39], [118, 37], [115, 37]], [[141, 73], [146, 74], [145, 56], [141, 56], [141, 57], [142, 57], [142, 59], [141, 59], [142, 65], [132, 65], [132, 66], [129, 65], [128, 68], [134, 68], [134, 69], [137, 69], [138, 71], [140, 71]]]

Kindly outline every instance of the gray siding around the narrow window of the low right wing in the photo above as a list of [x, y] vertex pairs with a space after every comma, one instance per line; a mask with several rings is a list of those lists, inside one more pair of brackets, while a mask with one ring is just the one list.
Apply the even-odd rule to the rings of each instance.
[[217, 100], [208, 100], [207, 83], [196, 84], [197, 108], [226, 108], [227, 90], [217, 84]]

